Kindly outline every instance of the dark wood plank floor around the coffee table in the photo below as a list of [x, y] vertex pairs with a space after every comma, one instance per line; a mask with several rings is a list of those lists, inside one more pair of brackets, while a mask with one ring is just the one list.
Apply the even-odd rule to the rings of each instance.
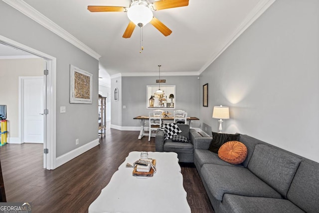
[[[51, 171], [42, 168], [40, 144], [0, 147], [7, 202], [31, 202], [32, 213], [87, 213], [129, 152], [155, 151], [154, 138], [138, 135], [108, 129], [99, 146]], [[181, 173], [192, 213], [213, 213], [193, 164], [182, 164]]]

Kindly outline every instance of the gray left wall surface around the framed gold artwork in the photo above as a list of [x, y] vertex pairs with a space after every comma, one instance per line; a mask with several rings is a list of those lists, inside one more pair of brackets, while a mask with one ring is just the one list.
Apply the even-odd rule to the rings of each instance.
[[[3, 1], [0, 20], [1, 35], [57, 59], [56, 157], [97, 139], [98, 61]], [[70, 64], [93, 73], [93, 104], [69, 103]], [[60, 106], [66, 106], [66, 113], [59, 113]]]

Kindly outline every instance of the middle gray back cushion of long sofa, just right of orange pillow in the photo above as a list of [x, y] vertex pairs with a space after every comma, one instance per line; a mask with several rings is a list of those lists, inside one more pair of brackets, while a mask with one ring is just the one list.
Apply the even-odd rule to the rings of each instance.
[[301, 159], [283, 150], [257, 144], [248, 169], [286, 198], [300, 162]]

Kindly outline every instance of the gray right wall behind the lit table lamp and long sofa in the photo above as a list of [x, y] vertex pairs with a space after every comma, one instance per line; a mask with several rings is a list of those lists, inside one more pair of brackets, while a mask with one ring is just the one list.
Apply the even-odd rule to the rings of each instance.
[[319, 162], [319, 1], [277, 0], [202, 74], [209, 107], [230, 107], [240, 132]]

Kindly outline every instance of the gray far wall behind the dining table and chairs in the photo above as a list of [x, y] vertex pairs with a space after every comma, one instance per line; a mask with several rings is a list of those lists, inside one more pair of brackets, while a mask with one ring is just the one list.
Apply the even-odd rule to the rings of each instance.
[[[166, 83], [160, 85], [175, 85], [175, 107], [176, 109], [185, 110], [188, 116], [199, 117], [199, 80], [198, 76], [161, 76]], [[133, 118], [139, 115], [148, 115], [151, 109], [147, 109], [147, 85], [158, 85], [156, 83], [158, 77], [122, 77], [122, 105], [126, 109], [122, 109], [122, 126], [132, 127], [140, 126], [139, 120]], [[113, 110], [113, 105], [112, 105]], [[173, 109], [164, 108], [170, 113]], [[113, 115], [112, 115], [113, 116]], [[113, 123], [112, 117], [111, 123]], [[199, 122], [192, 122], [192, 127], [198, 127]]]

